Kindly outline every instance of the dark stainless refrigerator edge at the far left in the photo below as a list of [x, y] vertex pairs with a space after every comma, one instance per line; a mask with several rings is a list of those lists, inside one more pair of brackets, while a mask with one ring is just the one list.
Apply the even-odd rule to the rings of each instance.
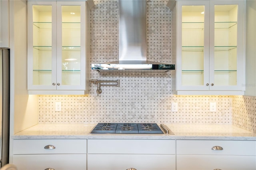
[[9, 163], [10, 49], [0, 48], [0, 153], [1, 167]]

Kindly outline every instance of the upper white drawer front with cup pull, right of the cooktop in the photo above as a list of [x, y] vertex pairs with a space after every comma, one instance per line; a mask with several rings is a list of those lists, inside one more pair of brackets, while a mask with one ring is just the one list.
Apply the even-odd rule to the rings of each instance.
[[[256, 155], [256, 141], [247, 140], [177, 140], [177, 154]], [[223, 150], [212, 150], [221, 146]]]

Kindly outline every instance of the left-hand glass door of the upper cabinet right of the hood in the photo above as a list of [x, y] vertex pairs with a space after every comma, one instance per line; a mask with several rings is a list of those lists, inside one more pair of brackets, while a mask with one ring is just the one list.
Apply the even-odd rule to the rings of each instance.
[[[191, 4], [191, 5], [190, 5]], [[209, 16], [209, 6], [207, 2], [184, 2], [180, 1], [181, 16], [181, 42], [178, 40], [178, 46], [181, 46], [181, 53], [178, 58], [181, 63], [181, 75], [179, 90], [188, 88], [206, 89], [208, 82], [208, 58], [209, 58], [209, 24], [207, 17]], [[179, 15], [179, 14], [177, 14]], [[179, 29], [178, 29], [179, 30]], [[177, 51], [178, 52], [178, 51]], [[178, 60], [178, 59], [177, 59]], [[178, 60], [179, 61], [179, 60]], [[180, 64], [177, 63], [177, 67]], [[177, 83], [179, 81], [177, 80]]]

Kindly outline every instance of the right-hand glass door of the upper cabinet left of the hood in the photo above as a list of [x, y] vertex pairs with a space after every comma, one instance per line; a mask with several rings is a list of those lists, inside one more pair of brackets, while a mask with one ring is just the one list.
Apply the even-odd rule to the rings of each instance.
[[[57, 82], [60, 84], [58, 89], [68, 89], [68, 86], [77, 86], [78, 89], [82, 84], [82, 74], [85, 61], [81, 56], [85, 56], [85, 3], [76, 2], [70, 5], [65, 2], [57, 2], [60, 22], [57, 25], [58, 51], [57, 60]], [[76, 89], [77, 89], [76, 88]]]

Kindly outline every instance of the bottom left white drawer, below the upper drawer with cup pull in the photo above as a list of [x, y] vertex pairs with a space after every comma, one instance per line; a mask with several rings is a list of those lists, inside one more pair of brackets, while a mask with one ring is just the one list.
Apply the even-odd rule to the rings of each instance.
[[18, 170], [86, 170], [86, 154], [13, 155]]

